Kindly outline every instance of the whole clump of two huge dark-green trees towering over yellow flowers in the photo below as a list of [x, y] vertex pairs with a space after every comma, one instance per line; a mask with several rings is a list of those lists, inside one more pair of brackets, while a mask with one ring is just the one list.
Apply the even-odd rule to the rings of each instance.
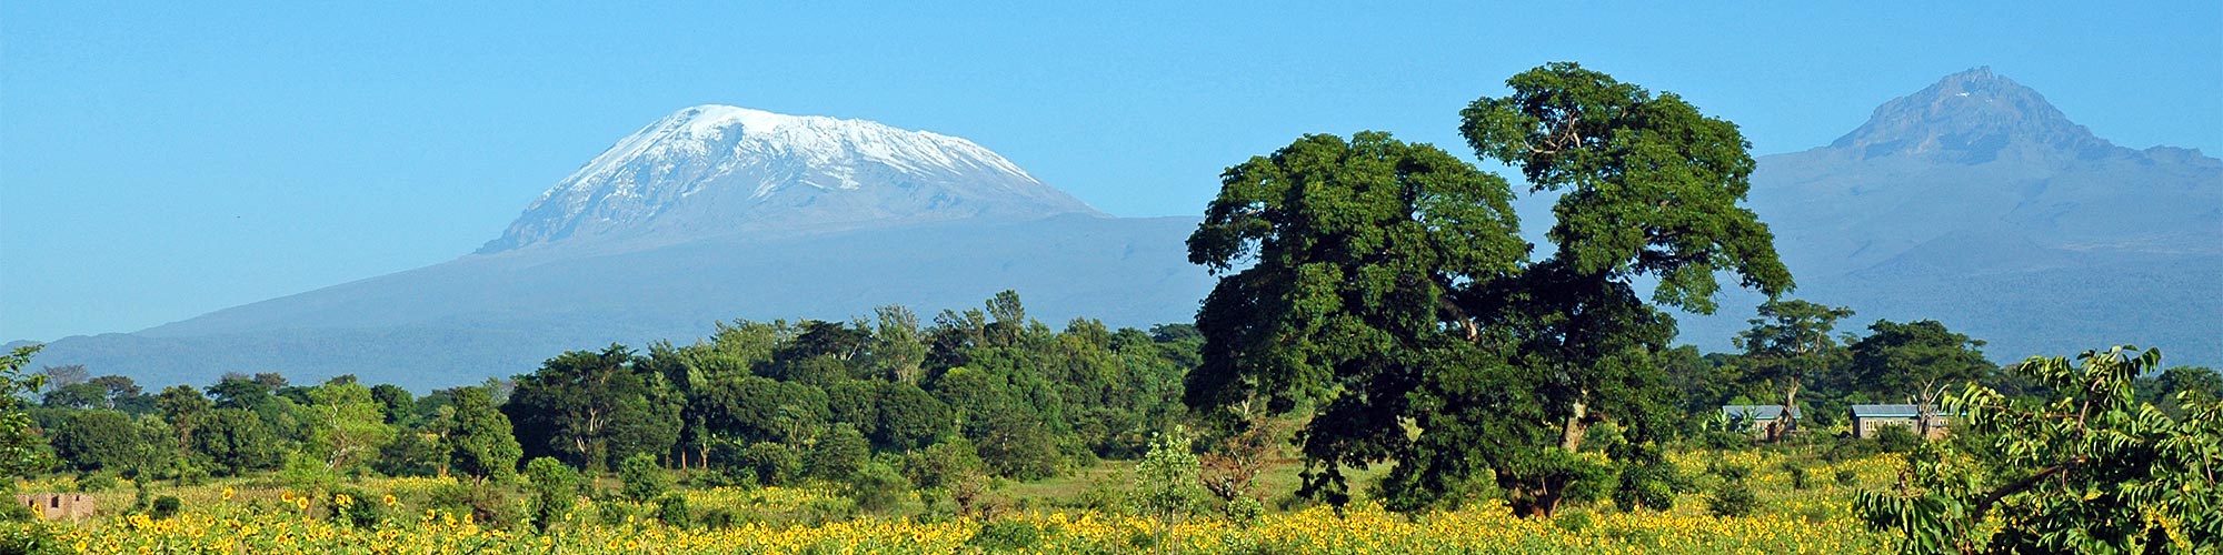
[[[1307, 135], [1229, 169], [1189, 238], [1220, 282], [1198, 311], [1187, 402], [1223, 417], [1312, 406], [1309, 493], [1343, 502], [1343, 468], [1396, 462], [1383, 493], [1403, 508], [1458, 502], [1483, 477], [1523, 515], [1607, 486], [1663, 506], [1654, 440], [1672, 391], [1654, 353], [1674, 320], [1654, 304], [1709, 313], [1716, 273], [1792, 286], [1738, 206], [1752, 158], [1734, 124], [1576, 64], [1507, 84], [1461, 131], [1561, 193], [1545, 260], [1527, 262], [1505, 180], [1383, 133]], [[1583, 453], [1598, 422], [1625, 433]]]

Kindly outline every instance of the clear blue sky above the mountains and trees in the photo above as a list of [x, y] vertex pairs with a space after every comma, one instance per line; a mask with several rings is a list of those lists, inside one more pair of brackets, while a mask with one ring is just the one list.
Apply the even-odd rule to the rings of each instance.
[[[1116, 215], [1576, 60], [1827, 144], [1990, 64], [2125, 147], [2223, 153], [2219, 2], [0, 2], [0, 340], [445, 262], [689, 104], [963, 135]], [[556, 2], [565, 4], [565, 2]], [[1545, 4], [1545, 7], [1536, 7]]]

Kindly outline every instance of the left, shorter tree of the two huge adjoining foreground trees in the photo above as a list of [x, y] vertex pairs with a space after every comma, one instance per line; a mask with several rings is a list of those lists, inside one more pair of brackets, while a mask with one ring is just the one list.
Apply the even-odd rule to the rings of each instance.
[[1509, 202], [1505, 180], [1389, 133], [1305, 135], [1227, 169], [1189, 235], [1189, 262], [1220, 282], [1185, 402], [1218, 422], [1254, 400], [1309, 406], [1303, 491], [1347, 502], [1345, 466], [1407, 455], [1432, 351], [1481, 333], [1454, 291], [1527, 253]]

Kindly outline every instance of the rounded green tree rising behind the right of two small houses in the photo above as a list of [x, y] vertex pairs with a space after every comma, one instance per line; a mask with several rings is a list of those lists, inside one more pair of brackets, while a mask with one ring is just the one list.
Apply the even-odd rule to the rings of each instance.
[[1865, 389], [1912, 397], [1923, 411], [1923, 437], [1930, 435], [1930, 415], [1950, 384], [1983, 380], [1998, 369], [1983, 360], [1983, 340], [1952, 333], [1936, 320], [1876, 320], [1867, 329], [1870, 335], [1852, 344], [1850, 373]]

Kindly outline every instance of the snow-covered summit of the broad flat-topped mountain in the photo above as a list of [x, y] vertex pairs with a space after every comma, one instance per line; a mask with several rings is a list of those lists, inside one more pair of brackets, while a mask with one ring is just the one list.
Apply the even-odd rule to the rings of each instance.
[[1103, 215], [963, 138], [702, 104], [618, 140], [480, 253], [1063, 213]]

